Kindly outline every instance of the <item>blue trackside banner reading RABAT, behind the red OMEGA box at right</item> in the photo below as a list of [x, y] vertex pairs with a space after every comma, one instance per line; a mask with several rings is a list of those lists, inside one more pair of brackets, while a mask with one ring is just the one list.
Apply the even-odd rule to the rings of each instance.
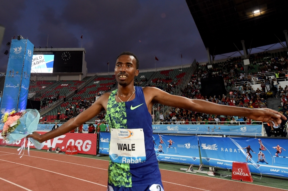
[[288, 177], [288, 139], [198, 137], [204, 165], [232, 169], [247, 162], [254, 173]]

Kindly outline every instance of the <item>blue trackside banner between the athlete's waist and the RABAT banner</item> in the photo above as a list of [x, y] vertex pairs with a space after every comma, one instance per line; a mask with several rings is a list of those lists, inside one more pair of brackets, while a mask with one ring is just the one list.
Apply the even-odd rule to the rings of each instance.
[[200, 164], [198, 139], [194, 135], [153, 134], [153, 142], [159, 161]]

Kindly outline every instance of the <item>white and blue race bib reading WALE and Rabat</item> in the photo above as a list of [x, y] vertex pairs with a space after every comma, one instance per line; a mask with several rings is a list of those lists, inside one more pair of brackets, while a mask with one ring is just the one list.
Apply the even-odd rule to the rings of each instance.
[[111, 129], [109, 157], [115, 163], [146, 160], [143, 129]]

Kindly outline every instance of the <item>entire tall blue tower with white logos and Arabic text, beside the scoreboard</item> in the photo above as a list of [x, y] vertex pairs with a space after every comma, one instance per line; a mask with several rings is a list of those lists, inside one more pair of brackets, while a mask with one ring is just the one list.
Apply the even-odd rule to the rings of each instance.
[[28, 39], [12, 39], [0, 117], [26, 109], [34, 45]]

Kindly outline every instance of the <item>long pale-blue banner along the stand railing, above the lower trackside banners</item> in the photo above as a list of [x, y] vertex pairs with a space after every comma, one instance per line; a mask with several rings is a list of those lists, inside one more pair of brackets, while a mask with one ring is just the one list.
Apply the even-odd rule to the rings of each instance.
[[154, 133], [262, 136], [262, 125], [152, 125]]

